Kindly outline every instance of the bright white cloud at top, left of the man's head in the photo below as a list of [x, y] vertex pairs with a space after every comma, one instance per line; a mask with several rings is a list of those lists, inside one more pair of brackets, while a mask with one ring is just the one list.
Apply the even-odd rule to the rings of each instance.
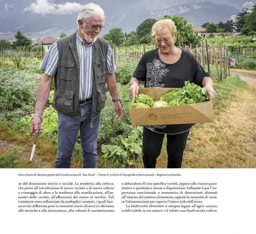
[[32, 11], [36, 14], [71, 14], [73, 12], [79, 12], [84, 5], [79, 3], [64, 3], [64, 4], [53, 4], [49, 3], [48, 0], [37, 0], [36, 3], [32, 3], [29, 7], [26, 7], [24, 11]]

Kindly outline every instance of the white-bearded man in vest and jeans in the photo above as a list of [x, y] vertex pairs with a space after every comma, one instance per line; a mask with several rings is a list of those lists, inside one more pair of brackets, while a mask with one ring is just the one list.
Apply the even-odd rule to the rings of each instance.
[[104, 12], [99, 5], [85, 5], [77, 15], [76, 33], [53, 43], [40, 65], [45, 73], [38, 85], [35, 114], [29, 128], [34, 136], [43, 131], [44, 106], [54, 77], [52, 106], [58, 112], [55, 168], [70, 168], [79, 129], [83, 168], [96, 168], [100, 111], [108, 90], [116, 118], [122, 121], [124, 116], [117, 96], [113, 53], [108, 42], [98, 37], [103, 20]]

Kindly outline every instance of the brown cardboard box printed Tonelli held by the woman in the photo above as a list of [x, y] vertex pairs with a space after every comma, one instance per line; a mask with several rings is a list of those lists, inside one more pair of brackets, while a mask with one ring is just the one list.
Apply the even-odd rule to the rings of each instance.
[[[140, 88], [139, 94], [147, 94], [154, 101], [158, 101], [168, 90], [170, 88]], [[132, 104], [134, 102], [135, 98]], [[214, 122], [211, 100], [190, 105], [155, 108], [132, 108], [132, 104], [129, 108], [132, 126]]]

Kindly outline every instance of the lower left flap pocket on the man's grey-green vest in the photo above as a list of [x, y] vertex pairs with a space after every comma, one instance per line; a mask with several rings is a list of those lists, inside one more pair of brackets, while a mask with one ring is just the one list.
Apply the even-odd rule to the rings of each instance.
[[74, 104], [73, 104], [73, 96], [74, 91], [57, 89], [56, 91], [56, 102], [57, 108], [60, 112], [65, 113], [73, 113], [74, 112]]

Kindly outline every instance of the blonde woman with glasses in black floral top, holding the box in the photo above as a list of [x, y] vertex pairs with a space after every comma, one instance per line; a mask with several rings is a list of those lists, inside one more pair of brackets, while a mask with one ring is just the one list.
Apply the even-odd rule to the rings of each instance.
[[[140, 82], [147, 88], [181, 88], [185, 81], [194, 82], [207, 89], [213, 100], [216, 92], [209, 74], [204, 71], [196, 58], [188, 51], [175, 47], [176, 26], [171, 19], [157, 21], [152, 27], [157, 49], [146, 52], [130, 80], [129, 94], [138, 95]], [[183, 151], [189, 130], [193, 124], [174, 124], [144, 126], [143, 129], [143, 163], [145, 168], [155, 168], [167, 136], [167, 168], [181, 168]]]

